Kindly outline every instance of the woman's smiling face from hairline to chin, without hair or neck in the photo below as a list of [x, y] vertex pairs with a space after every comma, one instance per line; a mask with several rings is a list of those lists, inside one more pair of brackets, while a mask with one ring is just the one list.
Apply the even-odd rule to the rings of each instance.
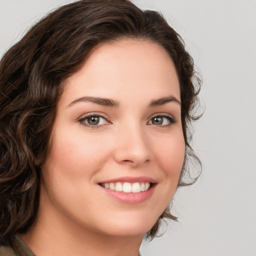
[[148, 231], [184, 160], [179, 102], [177, 74], [161, 46], [98, 45], [65, 81], [42, 166], [39, 216], [54, 228], [64, 221], [106, 235]]

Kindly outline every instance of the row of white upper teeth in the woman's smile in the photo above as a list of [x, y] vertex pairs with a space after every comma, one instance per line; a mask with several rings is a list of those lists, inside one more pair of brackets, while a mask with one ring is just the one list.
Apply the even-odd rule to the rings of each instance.
[[111, 183], [101, 183], [102, 186], [105, 188], [116, 190], [116, 191], [123, 191], [125, 193], [138, 193], [141, 191], [146, 191], [150, 183], [149, 182], [135, 182], [135, 183], [129, 183], [129, 182], [111, 182]]

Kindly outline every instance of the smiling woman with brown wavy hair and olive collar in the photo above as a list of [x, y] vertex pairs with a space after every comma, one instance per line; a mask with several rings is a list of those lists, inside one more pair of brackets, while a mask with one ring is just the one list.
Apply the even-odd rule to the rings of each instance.
[[35, 24], [0, 62], [1, 255], [138, 255], [196, 179], [194, 78], [179, 35], [129, 1]]

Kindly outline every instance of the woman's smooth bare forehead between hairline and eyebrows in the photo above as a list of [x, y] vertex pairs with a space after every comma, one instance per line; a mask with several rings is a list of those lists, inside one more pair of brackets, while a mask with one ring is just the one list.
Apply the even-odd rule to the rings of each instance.
[[175, 66], [153, 42], [123, 39], [97, 45], [82, 67], [65, 81], [63, 97], [113, 98], [150, 94], [180, 100]]

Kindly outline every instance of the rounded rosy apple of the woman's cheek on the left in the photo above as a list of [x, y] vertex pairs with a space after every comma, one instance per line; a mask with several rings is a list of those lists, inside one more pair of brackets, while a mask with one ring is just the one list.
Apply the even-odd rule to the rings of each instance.
[[55, 137], [49, 162], [60, 175], [84, 179], [100, 169], [109, 157], [107, 145], [106, 139], [93, 133], [60, 131]]

